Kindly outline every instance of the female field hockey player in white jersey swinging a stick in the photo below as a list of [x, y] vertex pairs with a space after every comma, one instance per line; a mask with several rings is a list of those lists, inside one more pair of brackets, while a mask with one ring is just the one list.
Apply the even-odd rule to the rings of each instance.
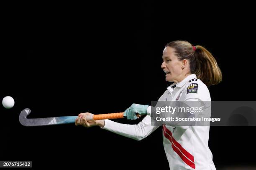
[[[163, 51], [161, 68], [166, 81], [173, 82], [159, 98], [159, 101], [210, 101], [207, 86], [222, 80], [222, 73], [215, 58], [200, 45], [187, 41], [169, 42]], [[193, 85], [192, 85], [193, 84]], [[149, 114], [148, 105], [133, 104], [124, 112], [129, 120]], [[110, 132], [135, 140], [142, 140], [159, 126], [151, 126], [151, 117], [146, 115], [138, 125], [121, 124], [111, 120], [87, 121], [87, 115], [80, 113], [76, 125], [100, 126]], [[215, 170], [212, 153], [208, 147], [210, 126], [163, 125], [163, 143], [170, 170]], [[175, 128], [175, 130], [173, 130]]]

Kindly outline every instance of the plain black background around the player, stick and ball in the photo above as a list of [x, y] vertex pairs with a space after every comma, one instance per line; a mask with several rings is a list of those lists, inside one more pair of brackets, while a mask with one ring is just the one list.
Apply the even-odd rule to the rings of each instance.
[[[223, 72], [212, 100], [255, 100], [255, 12], [250, 4], [173, 2], [3, 5], [0, 160], [31, 160], [33, 168], [169, 169], [161, 128], [142, 141], [99, 127], [23, 127], [30, 117], [121, 112], [158, 100], [170, 82], [161, 69], [167, 42], [205, 46]], [[225, 114], [225, 113], [223, 113]], [[115, 120], [137, 124], [139, 120]], [[211, 127], [217, 168], [253, 165], [255, 127]]]

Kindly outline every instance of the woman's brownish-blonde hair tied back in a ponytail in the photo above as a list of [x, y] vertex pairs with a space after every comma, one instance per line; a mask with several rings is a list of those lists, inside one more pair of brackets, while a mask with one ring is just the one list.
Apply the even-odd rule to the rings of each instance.
[[205, 85], [217, 85], [222, 80], [222, 73], [212, 54], [200, 45], [191, 45], [187, 41], [172, 41], [166, 47], [175, 49], [179, 60], [189, 60], [191, 74], [197, 75]]

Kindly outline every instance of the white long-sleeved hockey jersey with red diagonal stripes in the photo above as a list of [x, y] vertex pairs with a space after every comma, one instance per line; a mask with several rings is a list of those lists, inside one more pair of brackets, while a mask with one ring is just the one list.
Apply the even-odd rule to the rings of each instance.
[[[159, 101], [210, 101], [210, 92], [195, 74], [179, 83], [173, 83], [159, 98]], [[148, 113], [150, 107], [148, 107]], [[147, 115], [138, 125], [127, 125], [105, 120], [103, 129], [113, 133], [141, 140], [159, 126], [151, 126]], [[216, 170], [212, 153], [208, 147], [210, 126], [163, 125], [163, 144], [170, 170]]]

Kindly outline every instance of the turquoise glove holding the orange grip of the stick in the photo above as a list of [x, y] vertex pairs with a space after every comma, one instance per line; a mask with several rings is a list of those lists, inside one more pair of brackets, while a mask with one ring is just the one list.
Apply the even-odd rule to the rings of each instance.
[[132, 104], [131, 107], [125, 110], [123, 116], [126, 116], [128, 120], [138, 119], [136, 113], [140, 115], [147, 114], [148, 105]]

